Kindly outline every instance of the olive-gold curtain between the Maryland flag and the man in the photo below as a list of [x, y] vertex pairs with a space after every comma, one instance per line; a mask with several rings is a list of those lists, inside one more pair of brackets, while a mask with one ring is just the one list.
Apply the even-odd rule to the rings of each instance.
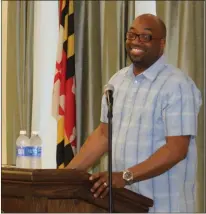
[[129, 63], [124, 43], [134, 8], [134, 1], [74, 3], [77, 149], [100, 122], [104, 85]]

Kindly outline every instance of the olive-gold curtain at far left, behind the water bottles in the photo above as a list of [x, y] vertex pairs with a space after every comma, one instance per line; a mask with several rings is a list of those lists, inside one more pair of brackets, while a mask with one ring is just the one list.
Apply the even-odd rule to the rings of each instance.
[[6, 123], [8, 164], [15, 163], [19, 131], [31, 132], [33, 1], [8, 1]]

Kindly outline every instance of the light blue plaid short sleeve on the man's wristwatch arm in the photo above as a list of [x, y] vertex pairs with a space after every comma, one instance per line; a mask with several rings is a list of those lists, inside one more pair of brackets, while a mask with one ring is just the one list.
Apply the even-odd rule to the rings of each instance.
[[201, 106], [201, 94], [189, 81], [176, 83], [166, 96], [163, 122], [166, 136], [197, 134], [197, 117]]

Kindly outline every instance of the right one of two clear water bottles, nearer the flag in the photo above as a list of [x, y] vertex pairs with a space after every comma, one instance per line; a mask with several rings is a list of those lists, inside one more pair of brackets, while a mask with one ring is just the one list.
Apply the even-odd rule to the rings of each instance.
[[33, 131], [30, 138], [31, 148], [31, 168], [41, 169], [41, 155], [42, 155], [42, 140], [37, 131]]

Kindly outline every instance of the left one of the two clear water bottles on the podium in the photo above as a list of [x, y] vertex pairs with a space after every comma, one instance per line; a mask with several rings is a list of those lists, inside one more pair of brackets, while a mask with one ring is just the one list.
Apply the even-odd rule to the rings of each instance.
[[16, 167], [30, 168], [29, 154], [29, 138], [26, 136], [26, 131], [20, 131], [20, 135], [16, 140]]

